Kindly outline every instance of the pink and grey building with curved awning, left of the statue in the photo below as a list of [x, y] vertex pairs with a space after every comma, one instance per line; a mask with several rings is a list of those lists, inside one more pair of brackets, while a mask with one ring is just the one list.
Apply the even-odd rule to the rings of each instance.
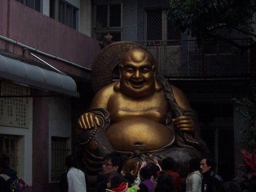
[[91, 1], [0, 1], [0, 147], [30, 191], [58, 190], [91, 100]]

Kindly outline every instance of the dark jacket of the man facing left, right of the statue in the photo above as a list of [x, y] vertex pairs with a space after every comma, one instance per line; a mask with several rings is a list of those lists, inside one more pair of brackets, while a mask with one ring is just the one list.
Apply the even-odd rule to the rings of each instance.
[[[203, 181], [202, 181], [202, 192], [217, 192], [220, 185], [223, 183], [223, 179], [214, 173], [213, 171], [210, 171], [209, 173], [205, 173], [203, 175]], [[204, 190], [204, 185], [206, 186], [206, 190]]]

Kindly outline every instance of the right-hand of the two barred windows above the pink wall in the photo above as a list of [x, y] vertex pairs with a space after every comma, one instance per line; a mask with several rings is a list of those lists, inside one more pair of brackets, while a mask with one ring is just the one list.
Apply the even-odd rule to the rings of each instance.
[[78, 29], [78, 9], [66, 1], [50, 0], [50, 17], [75, 30]]

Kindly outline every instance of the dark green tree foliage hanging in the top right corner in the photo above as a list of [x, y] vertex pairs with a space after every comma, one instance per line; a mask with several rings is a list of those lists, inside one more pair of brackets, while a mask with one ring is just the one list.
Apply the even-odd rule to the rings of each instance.
[[182, 32], [188, 30], [188, 35], [197, 38], [198, 45], [206, 38], [215, 38], [238, 47], [249, 49], [256, 47], [251, 38], [250, 45], [242, 46], [212, 33], [216, 29], [236, 30], [256, 37], [251, 27], [255, 11], [254, 0], [169, 0], [168, 19]]

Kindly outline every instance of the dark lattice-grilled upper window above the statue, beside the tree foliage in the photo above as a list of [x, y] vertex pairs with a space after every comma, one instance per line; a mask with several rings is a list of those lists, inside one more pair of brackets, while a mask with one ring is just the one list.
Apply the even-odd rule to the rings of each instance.
[[[166, 17], [165, 10], [146, 10], [146, 40], [177, 40], [181, 38], [180, 30], [176, 30]], [[180, 41], [168, 42], [168, 45], [180, 45]]]

